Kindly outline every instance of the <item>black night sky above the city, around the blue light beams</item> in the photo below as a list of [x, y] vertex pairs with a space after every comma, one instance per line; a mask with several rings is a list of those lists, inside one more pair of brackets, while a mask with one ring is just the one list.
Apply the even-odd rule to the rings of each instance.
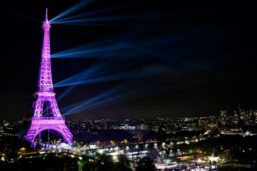
[[[51, 20], [76, 2], [1, 3], [0, 120], [18, 120], [29, 114], [37, 88], [45, 8]], [[94, 0], [65, 17], [109, 7], [114, 9], [84, 18], [120, 17], [88, 25], [52, 24], [51, 54], [81, 45], [90, 45], [87, 50], [118, 49], [89, 57], [52, 58], [53, 83], [99, 63], [110, 66], [93, 72], [98, 75], [91, 78], [125, 74], [76, 85], [67, 94], [63, 92], [69, 86], [54, 91], [56, 98], [64, 95], [57, 102], [60, 109], [119, 85], [124, 85], [122, 94], [128, 93], [114, 99], [110, 94], [106, 98], [112, 100], [103, 107], [67, 119], [209, 116], [233, 111], [238, 102], [242, 109], [257, 109], [256, 3]]]

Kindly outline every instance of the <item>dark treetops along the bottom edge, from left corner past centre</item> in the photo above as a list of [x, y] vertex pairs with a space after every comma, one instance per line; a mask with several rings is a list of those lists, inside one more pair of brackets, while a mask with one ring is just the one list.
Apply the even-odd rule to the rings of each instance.
[[[133, 171], [126, 156], [103, 155], [98, 160], [79, 160], [74, 157], [41, 156], [37, 158], [20, 158], [15, 162], [0, 161], [1, 170], [8, 171]], [[148, 157], [139, 160], [135, 171], [158, 171], [154, 161]]]

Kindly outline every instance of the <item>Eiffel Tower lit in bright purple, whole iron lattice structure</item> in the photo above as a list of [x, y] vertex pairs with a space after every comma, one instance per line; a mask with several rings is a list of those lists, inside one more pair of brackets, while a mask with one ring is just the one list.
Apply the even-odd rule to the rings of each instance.
[[[59, 108], [56, 103], [55, 93], [53, 91], [52, 72], [51, 72], [51, 58], [50, 58], [50, 23], [47, 19], [43, 22], [44, 38], [42, 44], [41, 62], [38, 77], [38, 91], [34, 94], [36, 98], [33, 109], [33, 116], [31, 118], [31, 125], [25, 139], [34, 143], [35, 137], [38, 135], [40, 142], [41, 131], [45, 129], [53, 129], [59, 132], [66, 143], [70, 143], [73, 136], [70, 130], [65, 125], [65, 117], [61, 117]], [[53, 117], [42, 117], [44, 103], [46, 103], [47, 110]]]

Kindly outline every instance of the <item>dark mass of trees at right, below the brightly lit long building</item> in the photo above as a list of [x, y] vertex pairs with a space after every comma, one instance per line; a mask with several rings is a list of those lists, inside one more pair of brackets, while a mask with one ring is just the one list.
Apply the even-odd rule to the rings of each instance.
[[180, 151], [187, 153], [217, 153], [227, 160], [240, 160], [244, 164], [254, 164], [257, 161], [257, 137], [241, 135], [223, 135], [217, 138], [207, 138], [197, 143], [180, 144]]

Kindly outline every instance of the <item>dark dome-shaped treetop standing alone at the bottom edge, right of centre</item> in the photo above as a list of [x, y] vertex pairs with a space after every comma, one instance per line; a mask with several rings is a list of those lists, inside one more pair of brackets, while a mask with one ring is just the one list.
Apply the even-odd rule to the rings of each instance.
[[151, 160], [150, 157], [144, 157], [139, 160], [135, 168], [135, 171], [157, 171], [154, 160]]

